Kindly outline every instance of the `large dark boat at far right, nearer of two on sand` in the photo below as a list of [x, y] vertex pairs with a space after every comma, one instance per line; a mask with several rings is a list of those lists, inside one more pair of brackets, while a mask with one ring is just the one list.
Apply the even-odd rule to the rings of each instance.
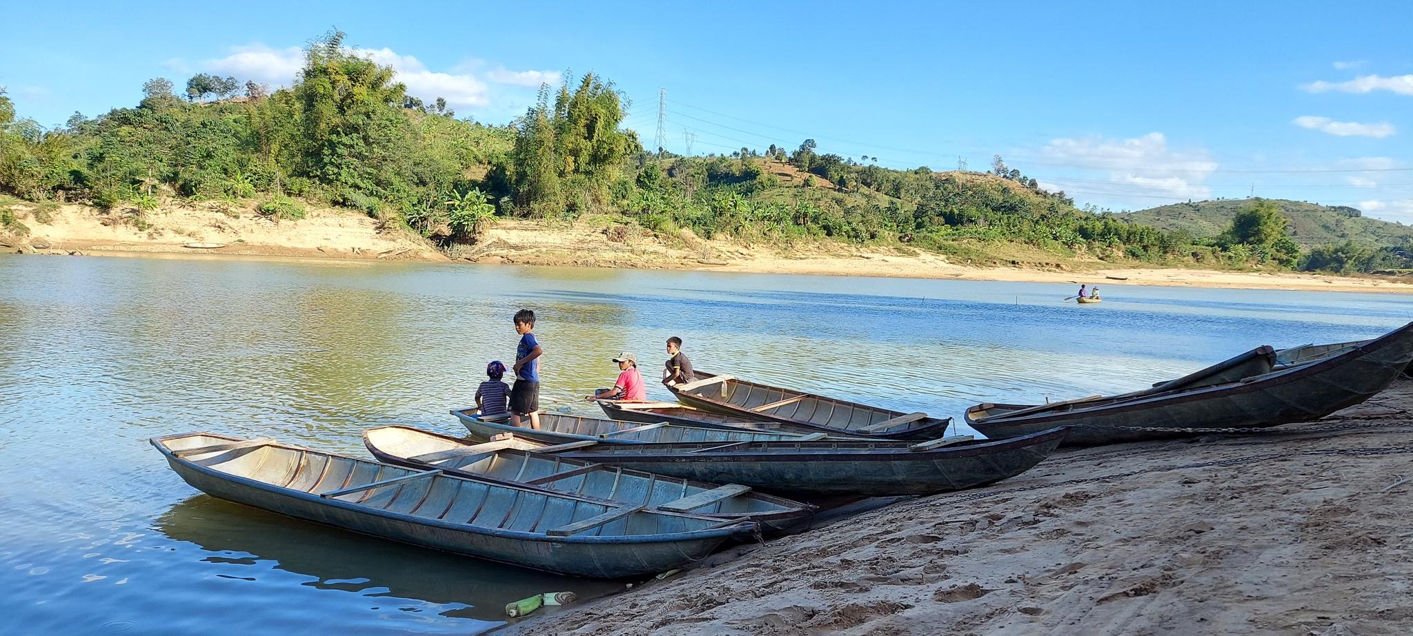
[[1225, 429], [1267, 427], [1324, 417], [1383, 391], [1413, 362], [1413, 323], [1341, 353], [1235, 382], [1104, 402], [1050, 405], [976, 405], [966, 423], [988, 437], [1010, 437], [1072, 426], [1067, 443], [1106, 444], [1174, 432], [1121, 427]]

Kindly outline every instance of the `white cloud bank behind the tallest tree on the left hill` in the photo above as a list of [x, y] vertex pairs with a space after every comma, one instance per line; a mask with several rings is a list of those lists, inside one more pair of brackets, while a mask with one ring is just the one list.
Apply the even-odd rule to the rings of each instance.
[[[500, 106], [492, 104], [492, 92], [486, 80], [509, 86], [536, 86], [541, 82], [555, 83], [560, 73], [551, 71], [509, 71], [497, 66], [478, 73], [479, 65], [458, 65], [451, 71], [432, 71], [413, 55], [401, 55], [390, 48], [356, 48], [355, 55], [391, 66], [394, 79], [407, 85], [408, 94], [431, 102], [445, 97], [454, 109]], [[188, 65], [182, 59], [168, 59], [164, 66], [181, 73], [192, 69], [232, 75], [236, 79], [253, 79], [273, 86], [290, 86], [304, 68], [304, 51], [298, 47], [271, 48], [264, 44], [250, 44], [232, 48], [230, 55]], [[485, 79], [482, 79], [485, 78]], [[519, 100], [514, 94], [496, 94], [496, 102]]]

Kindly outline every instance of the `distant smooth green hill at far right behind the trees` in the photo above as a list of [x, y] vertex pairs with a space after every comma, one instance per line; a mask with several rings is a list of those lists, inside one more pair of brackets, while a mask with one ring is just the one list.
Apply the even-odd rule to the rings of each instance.
[[[1368, 219], [1354, 207], [1270, 200], [1280, 207], [1286, 219], [1290, 219], [1290, 238], [1307, 250], [1344, 241], [1365, 247], [1392, 247], [1413, 238], [1413, 227]], [[1249, 199], [1226, 199], [1173, 203], [1116, 216], [1143, 226], [1181, 230], [1198, 238], [1208, 238], [1225, 231], [1232, 217], [1249, 206]]]

